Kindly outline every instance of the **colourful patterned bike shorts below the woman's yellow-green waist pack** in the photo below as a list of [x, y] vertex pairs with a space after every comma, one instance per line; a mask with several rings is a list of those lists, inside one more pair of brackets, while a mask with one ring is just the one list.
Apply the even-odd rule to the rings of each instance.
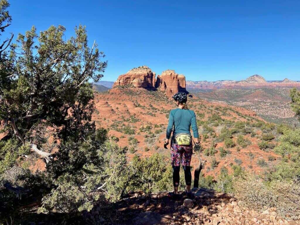
[[193, 154], [193, 145], [180, 146], [176, 143], [171, 144], [171, 164], [172, 166], [190, 166], [190, 160]]

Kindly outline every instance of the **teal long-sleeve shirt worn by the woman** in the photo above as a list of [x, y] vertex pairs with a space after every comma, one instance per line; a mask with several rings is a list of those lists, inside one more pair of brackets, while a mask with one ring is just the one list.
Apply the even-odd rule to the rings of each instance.
[[167, 127], [167, 139], [170, 138], [174, 125], [173, 137], [176, 134], [190, 134], [190, 126], [192, 126], [193, 136], [199, 138], [196, 115], [193, 110], [174, 109], [169, 115], [169, 123]]

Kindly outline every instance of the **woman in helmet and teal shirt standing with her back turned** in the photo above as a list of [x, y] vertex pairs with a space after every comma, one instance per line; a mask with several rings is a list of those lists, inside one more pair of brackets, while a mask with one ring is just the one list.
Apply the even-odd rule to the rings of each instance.
[[199, 134], [196, 123], [196, 115], [193, 110], [187, 109], [187, 94], [178, 92], [172, 97], [177, 104], [177, 108], [171, 110], [169, 115], [169, 124], [167, 127], [167, 137], [164, 143], [165, 149], [169, 144], [172, 129], [173, 136], [171, 139], [171, 164], [173, 167], [173, 185], [174, 191], [169, 192], [169, 196], [173, 199], [178, 199], [178, 186], [179, 186], [179, 171], [180, 162], [184, 170], [184, 178], [186, 183], [186, 194], [189, 198], [193, 197], [190, 190], [192, 182], [192, 174], [190, 172], [190, 161], [193, 154], [192, 137], [190, 134], [190, 126], [192, 126], [193, 136], [195, 139], [195, 149], [200, 148]]

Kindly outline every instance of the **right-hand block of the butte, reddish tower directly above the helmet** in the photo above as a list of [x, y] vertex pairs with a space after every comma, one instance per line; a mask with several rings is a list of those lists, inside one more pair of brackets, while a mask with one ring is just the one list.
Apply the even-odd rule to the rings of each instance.
[[165, 70], [157, 76], [155, 88], [165, 91], [166, 95], [172, 96], [178, 91], [185, 90], [185, 76], [175, 73], [175, 70]]

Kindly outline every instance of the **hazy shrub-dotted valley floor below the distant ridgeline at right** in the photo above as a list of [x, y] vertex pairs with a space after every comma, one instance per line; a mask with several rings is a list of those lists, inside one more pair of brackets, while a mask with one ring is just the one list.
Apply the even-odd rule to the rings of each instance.
[[192, 90], [199, 98], [253, 110], [268, 122], [299, 126], [290, 108], [290, 88]]

